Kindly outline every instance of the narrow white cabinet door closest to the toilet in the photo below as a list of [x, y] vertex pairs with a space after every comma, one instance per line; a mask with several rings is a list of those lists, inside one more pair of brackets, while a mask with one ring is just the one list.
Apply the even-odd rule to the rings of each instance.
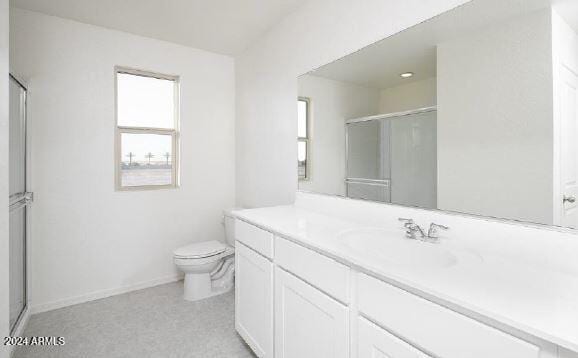
[[258, 357], [273, 357], [273, 263], [235, 247], [235, 327]]

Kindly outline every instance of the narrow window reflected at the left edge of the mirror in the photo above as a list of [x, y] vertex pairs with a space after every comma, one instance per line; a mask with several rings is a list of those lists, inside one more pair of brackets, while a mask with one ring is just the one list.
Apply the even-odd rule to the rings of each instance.
[[308, 180], [310, 174], [310, 105], [309, 98], [297, 100], [297, 174], [299, 180]]

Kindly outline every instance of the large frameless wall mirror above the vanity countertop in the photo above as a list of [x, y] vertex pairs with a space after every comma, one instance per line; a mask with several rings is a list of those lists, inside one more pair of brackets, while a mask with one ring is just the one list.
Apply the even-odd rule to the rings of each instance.
[[577, 0], [472, 0], [298, 82], [300, 190], [578, 227]]

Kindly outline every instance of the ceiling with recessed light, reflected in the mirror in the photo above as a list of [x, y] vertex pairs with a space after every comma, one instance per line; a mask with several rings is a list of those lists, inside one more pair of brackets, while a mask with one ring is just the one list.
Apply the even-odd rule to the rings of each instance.
[[[558, 1], [578, 5], [578, 0]], [[473, 0], [310, 74], [378, 89], [435, 77], [437, 44], [549, 6], [550, 0]], [[414, 76], [403, 79], [403, 72]]]

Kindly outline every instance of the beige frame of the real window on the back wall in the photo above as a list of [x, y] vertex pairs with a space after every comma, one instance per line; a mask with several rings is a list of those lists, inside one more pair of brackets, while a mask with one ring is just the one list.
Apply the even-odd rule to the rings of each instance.
[[[143, 76], [168, 80], [174, 82], [174, 126], [169, 128], [138, 127], [138, 126], [120, 126], [118, 124], [118, 74], [129, 74], [134, 76]], [[114, 130], [115, 130], [115, 149], [114, 149], [114, 182], [115, 191], [142, 191], [158, 189], [176, 189], [180, 186], [180, 77], [177, 75], [167, 75], [152, 71], [144, 71], [131, 67], [115, 66], [114, 67]], [[170, 135], [172, 143], [171, 158], [171, 183], [164, 185], [122, 185], [122, 134], [157, 134]]]

